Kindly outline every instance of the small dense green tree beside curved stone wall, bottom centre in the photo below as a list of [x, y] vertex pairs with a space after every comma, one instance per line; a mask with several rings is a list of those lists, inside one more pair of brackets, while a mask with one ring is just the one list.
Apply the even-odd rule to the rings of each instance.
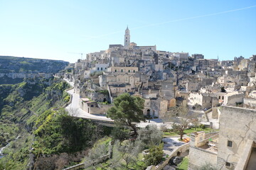
[[151, 149], [149, 149], [149, 154], [145, 155], [146, 166], [156, 165], [161, 162], [164, 155], [163, 147], [164, 145], [160, 144], [154, 145], [151, 147]]

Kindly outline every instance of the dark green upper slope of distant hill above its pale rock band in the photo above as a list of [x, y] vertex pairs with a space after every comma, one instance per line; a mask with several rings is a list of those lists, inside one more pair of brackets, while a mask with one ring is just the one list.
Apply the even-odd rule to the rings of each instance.
[[0, 73], [57, 73], [69, 62], [25, 57], [0, 56]]

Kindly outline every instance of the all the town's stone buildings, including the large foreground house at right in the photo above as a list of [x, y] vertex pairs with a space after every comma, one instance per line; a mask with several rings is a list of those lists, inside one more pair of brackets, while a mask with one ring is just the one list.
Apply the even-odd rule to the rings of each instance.
[[124, 45], [89, 53], [56, 74], [74, 84], [80, 110], [106, 115], [114, 98], [129, 93], [144, 98], [148, 123], [157, 120], [164, 129], [171, 108], [188, 106], [191, 114], [198, 113], [196, 120], [220, 131], [193, 133], [190, 147], [172, 156], [189, 148], [190, 169], [206, 163], [218, 169], [254, 167], [256, 55], [219, 61], [130, 41], [127, 27]]

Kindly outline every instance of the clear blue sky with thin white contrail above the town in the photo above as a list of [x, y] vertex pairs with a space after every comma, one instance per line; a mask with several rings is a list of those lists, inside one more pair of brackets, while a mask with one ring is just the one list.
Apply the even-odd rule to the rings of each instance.
[[233, 60], [256, 55], [256, 0], [0, 0], [0, 55], [76, 62], [131, 42]]

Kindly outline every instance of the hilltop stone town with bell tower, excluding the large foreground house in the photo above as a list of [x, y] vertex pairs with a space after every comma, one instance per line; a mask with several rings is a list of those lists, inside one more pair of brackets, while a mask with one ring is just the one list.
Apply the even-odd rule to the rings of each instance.
[[127, 28], [124, 45], [89, 53], [62, 74], [75, 83], [88, 113], [105, 114], [101, 104], [129, 93], [145, 99], [144, 115], [151, 118], [164, 118], [169, 108], [187, 104], [212, 109], [213, 118], [218, 118], [220, 105], [255, 107], [255, 72], [256, 55], [218, 61], [202, 54], [156, 50], [156, 45], [130, 42]]

